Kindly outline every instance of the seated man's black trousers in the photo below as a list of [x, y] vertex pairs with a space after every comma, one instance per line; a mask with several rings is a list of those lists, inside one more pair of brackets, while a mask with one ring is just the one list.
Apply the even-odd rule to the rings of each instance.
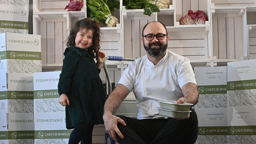
[[190, 109], [189, 119], [173, 118], [137, 120], [119, 116], [126, 126], [118, 124], [124, 138], [116, 136], [120, 144], [194, 144], [197, 140], [197, 114]]

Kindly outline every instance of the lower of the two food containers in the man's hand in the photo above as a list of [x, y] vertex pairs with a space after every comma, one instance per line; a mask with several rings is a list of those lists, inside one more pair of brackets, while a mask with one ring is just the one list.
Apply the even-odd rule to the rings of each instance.
[[168, 109], [162, 109], [158, 107], [158, 112], [162, 116], [168, 116], [170, 118], [187, 118], [191, 111], [172, 111]]

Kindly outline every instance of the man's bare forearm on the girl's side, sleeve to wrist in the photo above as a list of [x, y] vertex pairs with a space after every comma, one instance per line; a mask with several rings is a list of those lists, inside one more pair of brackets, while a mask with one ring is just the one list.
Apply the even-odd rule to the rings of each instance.
[[104, 105], [104, 113], [115, 113], [124, 98], [129, 94], [129, 90], [121, 84], [117, 84], [115, 89], [109, 94]]

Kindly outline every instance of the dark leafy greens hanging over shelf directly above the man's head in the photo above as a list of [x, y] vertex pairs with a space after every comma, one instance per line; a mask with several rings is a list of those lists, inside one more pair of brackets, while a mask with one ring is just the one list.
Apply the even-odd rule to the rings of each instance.
[[158, 6], [151, 4], [147, 0], [124, 0], [126, 9], [144, 9], [144, 15], [150, 16], [153, 12], [160, 12]]

